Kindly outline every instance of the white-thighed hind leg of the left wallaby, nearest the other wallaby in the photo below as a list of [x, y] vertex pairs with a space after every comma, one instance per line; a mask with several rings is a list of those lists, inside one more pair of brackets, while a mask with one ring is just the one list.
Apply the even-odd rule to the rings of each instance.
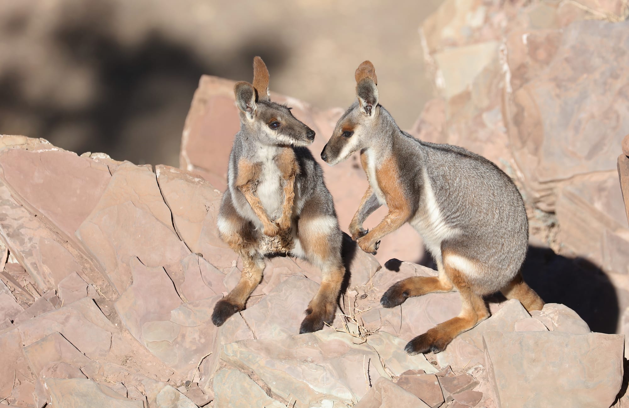
[[299, 242], [304, 257], [321, 268], [321, 286], [308, 304], [306, 318], [301, 322], [299, 333], [321, 330], [325, 323], [331, 325], [337, 311], [338, 294], [345, 277], [341, 259], [342, 235], [338, 222], [330, 215], [306, 215], [299, 220]]

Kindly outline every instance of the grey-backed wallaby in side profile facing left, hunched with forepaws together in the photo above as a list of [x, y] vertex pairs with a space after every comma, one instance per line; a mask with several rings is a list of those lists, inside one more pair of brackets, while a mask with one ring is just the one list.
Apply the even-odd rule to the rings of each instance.
[[[350, 223], [365, 252], [376, 253], [384, 235], [410, 223], [437, 264], [438, 277], [409, 277], [384, 293], [392, 308], [409, 296], [459, 291], [459, 316], [431, 328], [406, 352], [440, 352], [462, 331], [489, 316], [482, 296], [502, 291], [528, 311], [542, 299], [522, 279], [528, 220], [520, 192], [491, 161], [464, 148], [415, 139], [378, 104], [374, 65], [356, 70], [357, 100], [338, 120], [321, 158], [334, 165], [360, 151], [369, 188]], [[364, 220], [382, 204], [389, 212], [372, 230]]]

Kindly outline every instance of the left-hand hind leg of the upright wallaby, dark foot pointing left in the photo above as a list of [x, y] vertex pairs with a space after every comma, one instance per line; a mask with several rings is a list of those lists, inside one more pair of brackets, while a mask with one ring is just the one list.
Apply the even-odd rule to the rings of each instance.
[[245, 308], [245, 303], [249, 295], [262, 281], [262, 271], [264, 271], [264, 258], [260, 254], [241, 254], [243, 261], [240, 281], [231, 289], [230, 294], [221, 299], [214, 306], [212, 313], [212, 323], [221, 326], [234, 313]]

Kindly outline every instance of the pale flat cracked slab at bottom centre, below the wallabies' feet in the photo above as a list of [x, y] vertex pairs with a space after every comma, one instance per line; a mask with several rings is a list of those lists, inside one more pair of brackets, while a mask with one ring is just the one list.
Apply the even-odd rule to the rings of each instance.
[[309, 407], [323, 399], [351, 404], [367, 393], [365, 376], [371, 382], [388, 377], [376, 350], [353, 340], [357, 339], [331, 330], [243, 340], [223, 345], [221, 358], [252, 370], [273, 394], [296, 399], [296, 407]]

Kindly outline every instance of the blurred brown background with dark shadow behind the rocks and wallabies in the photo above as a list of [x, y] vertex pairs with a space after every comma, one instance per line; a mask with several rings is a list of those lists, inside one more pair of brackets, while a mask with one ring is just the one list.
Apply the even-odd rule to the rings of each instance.
[[0, 3], [0, 129], [79, 154], [177, 166], [202, 74], [252, 80], [315, 107], [347, 106], [378, 67], [403, 128], [432, 96], [418, 27], [441, 0], [20, 0]]

